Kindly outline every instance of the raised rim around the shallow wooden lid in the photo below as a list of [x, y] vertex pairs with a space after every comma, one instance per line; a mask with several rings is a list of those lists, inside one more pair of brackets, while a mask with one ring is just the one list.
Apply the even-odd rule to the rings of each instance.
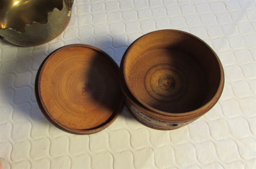
[[[80, 129], [73, 129], [70, 128], [69, 126], [65, 126], [61, 123], [58, 123], [58, 120], [55, 120], [52, 116], [51, 113], [46, 110], [46, 106], [42, 103], [41, 101], [41, 93], [39, 92], [39, 82], [41, 81], [41, 76], [42, 76], [42, 72], [44, 70], [44, 67], [47, 65], [47, 62], [58, 52], [65, 50], [65, 49], [69, 49], [69, 48], [73, 48], [73, 47], [84, 47], [84, 48], [88, 48], [88, 49], [92, 49], [100, 54], [102, 54], [102, 56], [106, 57], [107, 59], [109, 59], [111, 61], [111, 63], [113, 63], [111, 66], [115, 66], [118, 70], [119, 70], [119, 66], [117, 65], [117, 63], [113, 60], [112, 57], [110, 57], [106, 52], [102, 51], [99, 48], [96, 48], [94, 46], [90, 46], [90, 45], [86, 45], [86, 44], [71, 44], [71, 45], [67, 45], [67, 46], [62, 46], [58, 49], [56, 49], [55, 51], [53, 51], [52, 53], [50, 53], [45, 59], [44, 61], [41, 63], [41, 66], [38, 69], [36, 78], [35, 78], [35, 97], [38, 103], [39, 108], [41, 109], [41, 112], [44, 114], [44, 116], [57, 128], [65, 131], [65, 132], [69, 132], [71, 134], [77, 134], [77, 135], [88, 135], [88, 134], [93, 134], [96, 132], [100, 132], [103, 129], [107, 128], [108, 126], [110, 126], [115, 120], [116, 118], [119, 116], [120, 112], [122, 111], [123, 107], [124, 107], [124, 99], [123, 99], [123, 95], [122, 95], [122, 99], [119, 102], [118, 106], [118, 111], [116, 112], [116, 114], [114, 116], [111, 116], [110, 120], [107, 120], [108, 122], [103, 125], [103, 126], [99, 126], [93, 129], [88, 129], [88, 130], [80, 130]], [[118, 72], [119, 73], [119, 72]]]

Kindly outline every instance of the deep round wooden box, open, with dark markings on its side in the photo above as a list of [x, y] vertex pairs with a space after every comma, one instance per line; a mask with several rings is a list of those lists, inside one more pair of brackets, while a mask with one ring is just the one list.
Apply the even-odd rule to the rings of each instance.
[[145, 34], [120, 65], [125, 101], [141, 123], [177, 129], [208, 112], [224, 86], [215, 52], [198, 37], [177, 30]]

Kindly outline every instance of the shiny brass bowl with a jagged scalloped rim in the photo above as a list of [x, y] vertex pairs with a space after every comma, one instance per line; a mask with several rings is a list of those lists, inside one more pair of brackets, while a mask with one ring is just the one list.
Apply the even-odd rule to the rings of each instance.
[[37, 46], [58, 37], [70, 21], [74, 0], [0, 0], [0, 38]]

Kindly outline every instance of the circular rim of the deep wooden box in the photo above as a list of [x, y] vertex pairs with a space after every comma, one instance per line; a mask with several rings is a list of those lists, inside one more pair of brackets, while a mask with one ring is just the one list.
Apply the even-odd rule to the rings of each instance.
[[[153, 107], [149, 106], [148, 104], [146, 104], [145, 102], [143, 102], [143, 100], [141, 100], [139, 97], [137, 97], [137, 95], [132, 91], [131, 87], [129, 86], [129, 83], [128, 83], [128, 78], [126, 76], [126, 61], [127, 61], [127, 55], [131, 52], [131, 50], [134, 48], [134, 46], [137, 45], [137, 43], [139, 43], [139, 41], [143, 38], [146, 38], [148, 36], [151, 36], [152, 34], [155, 34], [155, 33], [159, 33], [159, 32], [179, 32], [179, 33], [183, 33], [183, 34], [187, 34], [189, 36], [192, 36], [194, 37], [195, 39], [197, 40], [200, 40], [204, 45], [206, 45], [210, 50], [211, 52], [214, 54], [216, 60], [218, 61], [218, 65], [220, 67], [220, 76], [221, 76], [221, 79], [220, 79], [220, 83], [219, 83], [219, 86], [218, 86], [218, 90], [217, 92], [215, 93], [215, 95], [212, 97], [211, 100], [209, 100], [209, 102], [207, 102], [206, 104], [204, 104], [204, 106], [201, 106], [200, 108], [198, 109], [195, 109], [193, 111], [190, 111], [190, 112], [184, 112], [184, 113], [172, 113], [172, 112], [163, 112], [163, 111], [160, 111], [158, 109], [154, 109]], [[199, 37], [193, 35], [193, 34], [190, 34], [188, 32], [184, 32], [184, 31], [180, 31], [180, 30], [176, 30], [176, 29], [163, 29], [163, 30], [158, 30], [158, 31], [154, 31], [154, 32], [149, 32], [147, 34], [144, 34], [143, 36], [139, 37], [137, 40], [135, 40], [129, 47], [128, 49], [126, 49], [124, 55], [123, 55], [123, 65], [120, 66], [120, 68], [122, 68], [122, 75], [124, 77], [124, 80], [125, 80], [125, 83], [126, 83], [126, 86], [129, 90], [129, 92], [131, 93], [131, 95], [139, 102], [141, 103], [145, 108], [151, 110], [152, 112], [155, 112], [159, 115], [167, 115], [167, 116], [187, 116], [187, 115], [192, 115], [192, 114], [198, 114], [199, 115], [203, 115], [205, 112], [204, 112], [204, 109], [207, 109], [207, 108], [212, 108], [217, 102], [218, 102], [218, 99], [220, 98], [221, 96], [221, 93], [223, 91], [223, 88], [224, 88], [224, 70], [223, 70], [223, 67], [222, 67], [222, 64], [221, 64], [221, 61], [220, 59], [218, 58], [218, 55], [212, 50], [212, 48], [207, 44], [205, 43], [203, 40], [201, 40]], [[199, 116], [198, 115], [198, 116]]]

